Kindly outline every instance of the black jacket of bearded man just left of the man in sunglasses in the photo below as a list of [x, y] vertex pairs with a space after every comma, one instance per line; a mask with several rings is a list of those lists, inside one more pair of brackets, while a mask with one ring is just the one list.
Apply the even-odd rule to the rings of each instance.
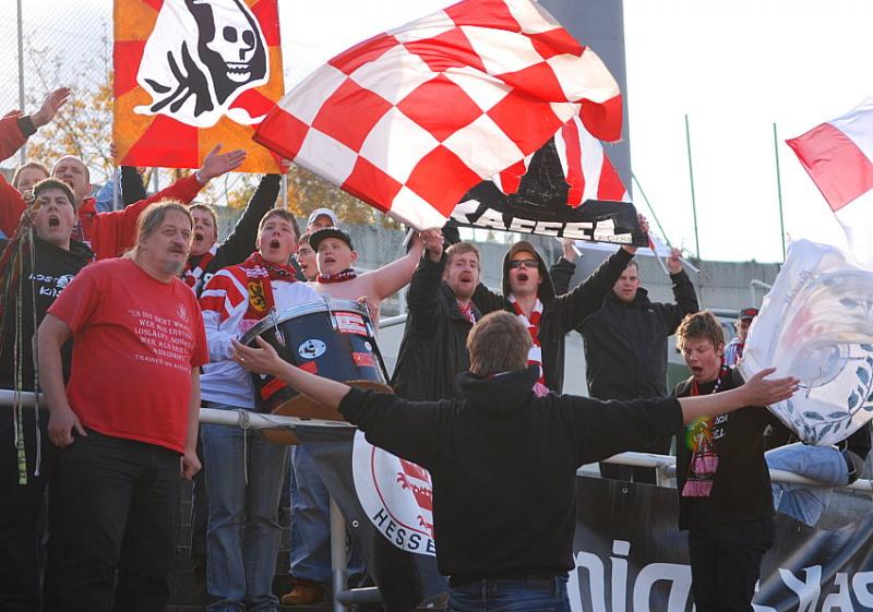
[[[409, 314], [391, 381], [406, 399], [459, 397], [455, 376], [469, 368], [467, 334], [473, 324], [442, 279], [445, 261], [444, 253], [439, 262], [424, 255], [406, 293]], [[473, 312], [481, 319], [476, 304]]]

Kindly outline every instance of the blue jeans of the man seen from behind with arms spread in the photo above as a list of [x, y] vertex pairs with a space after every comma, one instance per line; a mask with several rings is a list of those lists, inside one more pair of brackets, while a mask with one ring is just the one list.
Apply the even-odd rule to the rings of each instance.
[[486, 578], [450, 586], [446, 612], [570, 612], [566, 576]]

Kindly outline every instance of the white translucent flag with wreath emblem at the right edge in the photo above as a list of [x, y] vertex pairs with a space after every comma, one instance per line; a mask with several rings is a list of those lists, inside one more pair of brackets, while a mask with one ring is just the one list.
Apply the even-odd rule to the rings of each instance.
[[873, 418], [873, 272], [833, 247], [788, 250], [740, 361], [745, 377], [775, 367], [800, 391], [769, 407], [806, 444], [835, 444]]

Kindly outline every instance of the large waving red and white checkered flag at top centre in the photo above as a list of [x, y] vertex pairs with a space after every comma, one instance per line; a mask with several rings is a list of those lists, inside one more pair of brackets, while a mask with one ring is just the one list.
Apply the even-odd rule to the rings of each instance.
[[600, 59], [531, 0], [465, 0], [316, 69], [254, 139], [416, 228], [536, 152], [574, 115], [621, 134]]

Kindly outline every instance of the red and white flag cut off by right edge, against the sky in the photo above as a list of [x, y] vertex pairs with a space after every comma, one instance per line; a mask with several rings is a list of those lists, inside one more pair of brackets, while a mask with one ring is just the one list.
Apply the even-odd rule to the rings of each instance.
[[786, 143], [834, 211], [852, 255], [873, 267], [873, 98]]

